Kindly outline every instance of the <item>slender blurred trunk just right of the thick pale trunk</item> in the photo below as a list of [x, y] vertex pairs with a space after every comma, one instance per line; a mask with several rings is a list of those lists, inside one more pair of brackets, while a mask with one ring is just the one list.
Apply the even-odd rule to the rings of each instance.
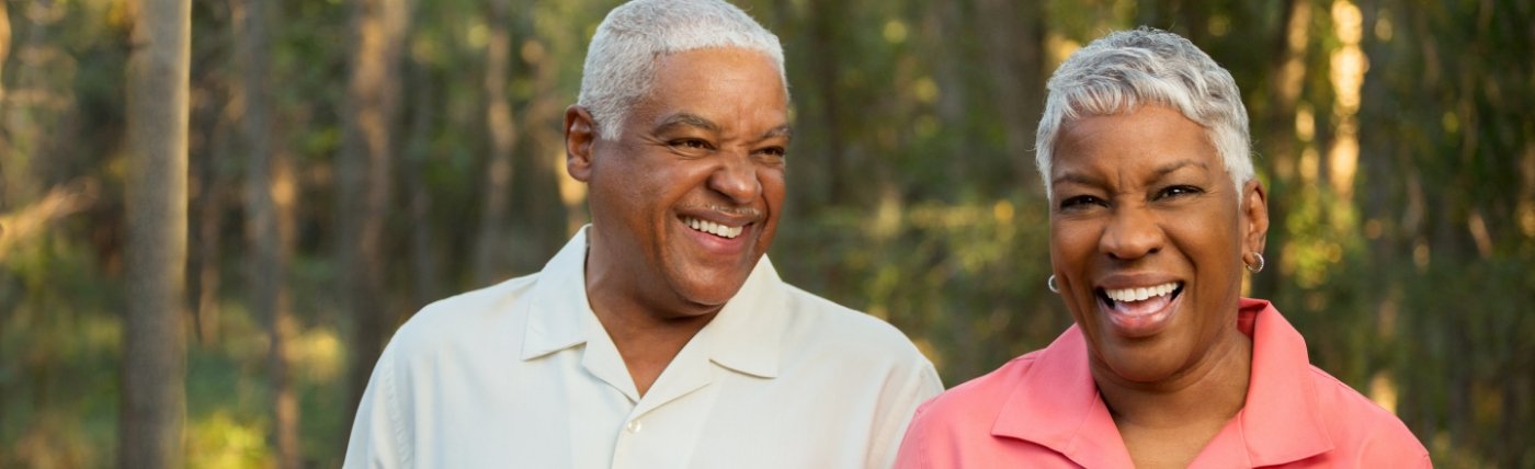
[[246, 241], [250, 245], [247, 264], [247, 294], [250, 308], [267, 328], [267, 385], [272, 395], [272, 440], [276, 448], [276, 466], [295, 469], [302, 466], [298, 426], [298, 397], [289, 374], [289, 340], [292, 317], [289, 291], [286, 288], [287, 253], [290, 241], [279, 228], [278, 207], [273, 198], [273, 141], [272, 97], [267, 87], [270, 61], [270, 2], [235, 2], [235, 21], [239, 28], [236, 52], [244, 69], [244, 135], [246, 149]]

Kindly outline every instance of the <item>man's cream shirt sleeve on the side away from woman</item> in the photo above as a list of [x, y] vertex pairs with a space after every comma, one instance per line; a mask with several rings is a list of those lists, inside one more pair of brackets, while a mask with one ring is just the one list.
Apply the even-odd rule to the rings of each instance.
[[358, 417], [352, 423], [352, 438], [342, 463], [345, 469], [410, 467], [408, 458], [402, 457], [410, 448], [410, 428], [401, 418], [405, 412], [399, 406], [398, 363], [391, 351], [393, 346], [388, 346], [379, 356], [362, 402], [358, 403]]

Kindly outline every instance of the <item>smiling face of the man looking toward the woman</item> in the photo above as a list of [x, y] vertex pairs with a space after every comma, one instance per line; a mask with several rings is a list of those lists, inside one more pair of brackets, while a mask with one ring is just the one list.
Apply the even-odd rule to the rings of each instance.
[[787, 104], [768, 55], [698, 49], [660, 58], [628, 121], [603, 123], [622, 135], [573, 175], [591, 187], [593, 256], [635, 300], [706, 314], [741, 288], [783, 207]]

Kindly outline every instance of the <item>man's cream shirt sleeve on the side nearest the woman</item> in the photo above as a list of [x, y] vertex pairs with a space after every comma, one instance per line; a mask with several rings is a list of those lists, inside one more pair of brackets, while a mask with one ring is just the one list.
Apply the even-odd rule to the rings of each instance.
[[881, 398], [886, 405], [876, 421], [875, 441], [869, 448], [869, 467], [892, 467], [896, 449], [906, 435], [907, 425], [916, 415], [916, 408], [929, 398], [944, 391], [938, 371], [927, 359], [904, 369], [904, 376], [895, 379], [893, 386]]

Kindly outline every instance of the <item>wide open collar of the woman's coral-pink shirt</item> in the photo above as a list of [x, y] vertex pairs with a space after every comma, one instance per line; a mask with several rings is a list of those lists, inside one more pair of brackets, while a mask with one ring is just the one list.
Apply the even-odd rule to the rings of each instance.
[[[1300, 333], [1266, 300], [1254, 299], [1240, 300], [1237, 326], [1253, 337], [1248, 397], [1236, 417], [1249, 463], [1282, 464], [1331, 451]], [[1131, 466], [1087, 354], [1076, 325], [1039, 351], [1002, 405], [992, 435], [1033, 441], [1087, 467]]]

